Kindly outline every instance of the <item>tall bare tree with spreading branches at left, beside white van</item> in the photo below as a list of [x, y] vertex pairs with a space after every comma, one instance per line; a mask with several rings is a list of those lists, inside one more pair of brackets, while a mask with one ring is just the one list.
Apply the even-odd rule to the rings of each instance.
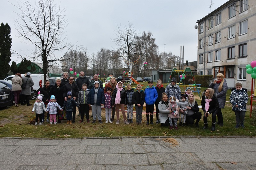
[[55, 58], [54, 51], [68, 47], [67, 42], [63, 43], [65, 37], [62, 37], [67, 26], [65, 9], [60, 10], [60, 5], [54, 4], [53, 0], [38, 0], [33, 6], [24, 0], [16, 7], [16, 29], [23, 41], [35, 46], [35, 58], [42, 58], [45, 80], [49, 58], [59, 60]]

